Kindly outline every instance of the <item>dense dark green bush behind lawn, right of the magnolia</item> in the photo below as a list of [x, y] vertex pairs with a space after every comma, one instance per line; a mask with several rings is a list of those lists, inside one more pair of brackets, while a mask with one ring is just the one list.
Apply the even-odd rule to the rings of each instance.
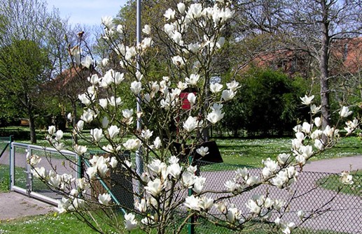
[[242, 88], [237, 97], [225, 103], [223, 128], [237, 136], [283, 136], [291, 133], [295, 119], [305, 119], [307, 110], [300, 108], [307, 82], [288, 78], [279, 71], [251, 68], [238, 80]]

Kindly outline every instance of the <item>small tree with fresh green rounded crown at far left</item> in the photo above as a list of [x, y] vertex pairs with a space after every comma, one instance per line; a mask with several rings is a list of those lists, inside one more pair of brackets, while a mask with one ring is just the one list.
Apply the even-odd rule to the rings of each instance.
[[30, 140], [36, 142], [36, 103], [40, 100], [39, 88], [49, 75], [50, 61], [46, 51], [33, 41], [14, 41], [1, 48], [0, 90], [8, 102], [20, 103], [29, 118]]

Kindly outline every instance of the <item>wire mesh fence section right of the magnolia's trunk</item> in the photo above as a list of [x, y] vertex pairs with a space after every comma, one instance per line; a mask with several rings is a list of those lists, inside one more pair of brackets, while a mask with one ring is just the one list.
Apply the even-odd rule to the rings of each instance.
[[[200, 163], [200, 174], [207, 178], [207, 190], [225, 190], [224, 182], [232, 179], [237, 168], [244, 166], [228, 165], [225, 163]], [[249, 168], [252, 175], [261, 176], [260, 168]], [[362, 233], [362, 175], [354, 175], [354, 184], [344, 185], [340, 175], [330, 173], [301, 172], [298, 182], [289, 189], [277, 189], [262, 185], [230, 198], [228, 203], [242, 211], [244, 216], [249, 214], [247, 200], [254, 194], [265, 195], [272, 199], [283, 199], [287, 206], [281, 219], [293, 221], [299, 226], [293, 233]], [[217, 195], [209, 196], [218, 198]], [[302, 222], [298, 211], [303, 210], [305, 217], [313, 214], [310, 219]], [[273, 221], [279, 217], [274, 213]], [[195, 225], [195, 233], [232, 233], [227, 228], [211, 228], [207, 220], [200, 219]], [[246, 226], [246, 233], [275, 233], [267, 221], [255, 221]]]

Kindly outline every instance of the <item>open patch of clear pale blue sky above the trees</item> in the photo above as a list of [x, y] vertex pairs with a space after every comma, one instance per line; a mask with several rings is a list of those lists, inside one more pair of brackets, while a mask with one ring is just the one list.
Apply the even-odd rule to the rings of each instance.
[[60, 10], [71, 24], [99, 25], [103, 16], [116, 16], [127, 0], [46, 0], [48, 8]]

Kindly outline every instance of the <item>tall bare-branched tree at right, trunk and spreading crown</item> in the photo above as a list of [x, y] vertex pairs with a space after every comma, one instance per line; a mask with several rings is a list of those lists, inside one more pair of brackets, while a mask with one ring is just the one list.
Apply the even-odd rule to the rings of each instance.
[[[322, 128], [330, 125], [330, 54], [337, 41], [360, 36], [361, 0], [258, 1], [265, 17], [258, 26], [279, 40], [279, 49], [300, 50], [316, 61]], [[259, 20], [259, 21], [258, 21]]]

